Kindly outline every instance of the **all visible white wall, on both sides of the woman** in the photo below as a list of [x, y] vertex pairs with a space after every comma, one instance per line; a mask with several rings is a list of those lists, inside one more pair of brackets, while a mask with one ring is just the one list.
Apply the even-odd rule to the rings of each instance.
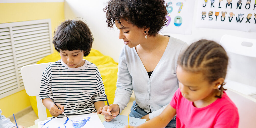
[[[64, 10], [66, 19], [81, 17], [88, 22], [94, 36], [93, 49], [99, 50], [104, 55], [111, 56], [116, 62], [124, 43], [118, 39], [118, 30], [110, 29], [106, 23], [106, 13], [103, 8], [108, 0], [65, 0]], [[256, 32], [243, 32], [237, 30], [195, 28], [196, 8], [198, 0], [195, 0], [195, 10], [191, 35], [170, 34], [191, 44], [199, 39], [209, 39], [219, 42], [221, 36], [229, 34], [238, 37], [256, 39]], [[201, 14], [200, 14], [201, 15]], [[235, 27], [235, 26], [234, 26]]]

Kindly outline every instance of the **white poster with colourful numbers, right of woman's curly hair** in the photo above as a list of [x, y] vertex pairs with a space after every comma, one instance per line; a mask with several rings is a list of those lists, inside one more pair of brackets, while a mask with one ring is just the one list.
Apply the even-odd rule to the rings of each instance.
[[162, 33], [191, 34], [193, 23], [194, 0], [166, 0], [168, 4], [167, 25]]

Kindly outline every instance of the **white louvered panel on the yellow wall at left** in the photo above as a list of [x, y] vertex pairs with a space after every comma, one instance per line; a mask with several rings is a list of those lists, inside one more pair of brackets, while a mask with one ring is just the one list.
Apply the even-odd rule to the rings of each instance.
[[24, 89], [20, 69], [53, 53], [50, 19], [0, 24], [0, 99]]

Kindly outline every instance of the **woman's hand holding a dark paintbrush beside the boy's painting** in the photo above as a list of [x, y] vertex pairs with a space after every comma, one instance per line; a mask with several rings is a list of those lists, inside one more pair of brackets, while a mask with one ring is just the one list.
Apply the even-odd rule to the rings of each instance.
[[[104, 115], [105, 121], [109, 122], [112, 119], [116, 118], [119, 114], [119, 105], [118, 104], [110, 104], [109, 106], [104, 106], [102, 109], [102, 115]], [[111, 116], [112, 114], [112, 116]]]

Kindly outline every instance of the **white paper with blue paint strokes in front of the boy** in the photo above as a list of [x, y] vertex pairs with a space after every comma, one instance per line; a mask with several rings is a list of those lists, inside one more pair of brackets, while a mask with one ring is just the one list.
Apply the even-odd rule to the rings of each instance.
[[76, 115], [67, 118], [55, 118], [38, 122], [38, 128], [104, 128], [97, 113]]

